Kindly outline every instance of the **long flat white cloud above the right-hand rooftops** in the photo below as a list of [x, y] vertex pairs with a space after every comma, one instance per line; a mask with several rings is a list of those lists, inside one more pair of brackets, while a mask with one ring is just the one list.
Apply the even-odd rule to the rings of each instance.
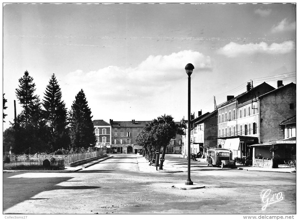
[[227, 57], [236, 57], [237, 55], [247, 54], [253, 55], [257, 53], [267, 54], [285, 54], [295, 49], [295, 43], [293, 41], [285, 41], [282, 43], [272, 43], [268, 45], [265, 42], [238, 44], [230, 42], [224, 47], [220, 48], [218, 52]]

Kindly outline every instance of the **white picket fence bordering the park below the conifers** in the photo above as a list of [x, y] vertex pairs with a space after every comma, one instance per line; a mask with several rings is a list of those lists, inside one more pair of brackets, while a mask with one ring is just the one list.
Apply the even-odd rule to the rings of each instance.
[[43, 161], [45, 159], [51, 160], [54, 157], [56, 160], [64, 160], [65, 163], [72, 163], [83, 159], [88, 159], [96, 156], [100, 156], [106, 153], [106, 150], [96, 150], [85, 153], [70, 154], [70, 155], [56, 155], [56, 154], [35, 154], [35, 155], [9, 155], [11, 162], [29, 162], [29, 161]]

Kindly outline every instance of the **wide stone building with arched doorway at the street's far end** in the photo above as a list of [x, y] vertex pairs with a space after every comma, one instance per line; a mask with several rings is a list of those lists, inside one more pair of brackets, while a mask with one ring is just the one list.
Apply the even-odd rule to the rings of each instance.
[[136, 143], [137, 134], [143, 130], [146, 123], [151, 121], [113, 121], [110, 119], [112, 129], [112, 148], [114, 153], [136, 154], [142, 151], [142, 146]]

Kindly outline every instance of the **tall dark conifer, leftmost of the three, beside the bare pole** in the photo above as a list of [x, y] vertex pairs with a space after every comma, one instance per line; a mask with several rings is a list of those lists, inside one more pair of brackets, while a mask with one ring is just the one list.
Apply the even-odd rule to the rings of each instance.
[[39, 97], [34, 95], [35, 83], [29, 76], [28, 71], [19, 79], [19, 88], [16, 95], [23, 107], [17, 116], [15, 153], [44, 152], [45, 144], [45, 121], [42, 119], [42, 109]]

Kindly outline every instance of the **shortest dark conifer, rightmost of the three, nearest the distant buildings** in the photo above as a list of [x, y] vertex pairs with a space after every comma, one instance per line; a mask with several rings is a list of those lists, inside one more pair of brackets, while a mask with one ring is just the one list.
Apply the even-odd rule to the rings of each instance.
[[82, 147], [94, 147], [96, 137], [93, 133], [91, 111], [83, 90], [77, 94], [70, 111], [71, 147], [79, 151]]

